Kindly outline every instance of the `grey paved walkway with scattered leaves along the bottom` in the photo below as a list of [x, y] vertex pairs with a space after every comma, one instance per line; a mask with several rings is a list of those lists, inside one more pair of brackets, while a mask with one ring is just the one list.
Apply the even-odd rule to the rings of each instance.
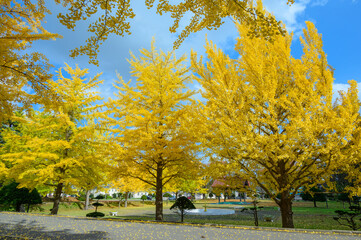
[[141, 223], [0, 213], [0, 239], [361, 239], [361, 235], [328, 231], [306, 233], [180, 224]]

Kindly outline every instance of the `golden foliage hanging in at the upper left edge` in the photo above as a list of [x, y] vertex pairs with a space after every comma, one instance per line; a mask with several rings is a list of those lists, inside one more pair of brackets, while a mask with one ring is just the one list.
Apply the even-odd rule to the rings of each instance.
[[46, 86], [51, 78], [48, 60], [37, 52], [24, 53], [36, 40], [59, 37], [41, 26], [43, 3], [0, 1], [0, 122], [19, 107], [28, 109], [51, 96]]

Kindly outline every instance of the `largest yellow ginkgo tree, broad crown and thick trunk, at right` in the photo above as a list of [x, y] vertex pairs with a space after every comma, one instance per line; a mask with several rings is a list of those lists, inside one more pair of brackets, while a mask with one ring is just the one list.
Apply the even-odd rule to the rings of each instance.
[[343, 164], [339, 152], [358, 116], [347, 95], [344, 104], [333, 105], [333, 72], [321, 35], [311, 22], [306, 25], [300, 59], [291, 56], [292, 34], [270, 43], [249, 37], [240, 24], [238, 59], [211, 42], [206, 64], [192, 53], [205, 99], [199, 109], [205, 149], [260, 186], [279, 205], [282, 226], [288, 228], [294, 227], [297, 191], [324, 182]]

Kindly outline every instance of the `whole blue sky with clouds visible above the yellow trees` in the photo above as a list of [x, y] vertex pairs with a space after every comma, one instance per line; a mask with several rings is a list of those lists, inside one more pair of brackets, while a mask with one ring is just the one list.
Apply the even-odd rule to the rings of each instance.
[[[44, 53], [56, 68], [64, 66], [66, 62], [70, 66], [78, 64], [80, 68], [89, 68], [89, 76], [103, 72], [101, 79], [104, 79], [104, 84], [99, 90], [105, 98], [113, 95], [112, 83], [117, 79], [117, 72], [124, 80], [131, 79], [129, 64], [126, 60], [130, 58], [129, 51], [137, 56], [140, 48], [150, 47], [153, 36], [157, 48], [170, 51], [176, 39], [176, 34], [171, 34], [168, 30], [172, 25], [169, 15], [156, 15], [155, 9], [146, 9], [144, 1], [133, 0], [131, 7], [136, 17], [131, 20], [132, 34], [125, 37], [111, 36], [100, 48], [99, 67], [96, 67], [88, 64], [86, 56], [76, 59], [69, 57], [70, 49], [79, 47], [86, 40], [89, 23], [82, 22], [78, 24], [75, 31], [70, 31], [56, 18], [57, 13], [64, 12], [65, 9], [53, 1], [46, 2], [53, 14], [47, 16], [47, 23], [44, 26], [50, 32], [63, 35], [63, 38], [56, 41], [38, 41], [32, 49]], [[360, 82], [361, 0], [296, 0], [292, 6], [286, 5], [286, 2], [287, 0], [264, 0], [264, 5], [275, 14], [278, 20], [286, 24], [289, 31], [294, 32], [292, 54], [295, 57], [301, 56], [302, 49], [298, 37], [305, 26], [305, 21], [312, 21], [319, 33], [322, 33], [324, 51], [329, 64], [336, 69], [334, 91], [347, 89], [348, 80], [354, 79]], [[186, 24], [186, 21], [182, 22], [181, 29]], [[204, 30], [192, 34], [176, 50], [176, 55], [189, 56], [191, 49], [204, 54], [206, 35], [208, 40], [212, 40], [227, 54], [232, 57], [237, 56], [233, 50], [237, 31], [230, 20], [226, 20], [226, 23], [216, 31]]]

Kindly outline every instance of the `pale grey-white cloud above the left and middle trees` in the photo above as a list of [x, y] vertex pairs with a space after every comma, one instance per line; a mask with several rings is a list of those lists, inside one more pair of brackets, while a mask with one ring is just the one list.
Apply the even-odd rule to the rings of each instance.
[[[88, 64], [87, 56], [80, 56], [76, 59], [69, 57], [71, 49], [81, 46], [89, 36], [87, 27], [89, 22], [79, 22], [75, 31], [71, 31], [61, 25], [56, 18], [59, 12], [64, 12], [65, 9], [61, 5], [56, 5], [53, 1], [47, 1], [47, 6], [51, 10], [52, 15], [47, 16], [47, 23], [44, 27], [49, 32], [54, 32], [63, 35], [62, 39], [56, 41], [37, 41], [33, 44], [33, 50], [44, 53], [55, 65], [56, 68], [63, 67], [64, 62], [74, 67], [78, 64], [80, 68], [89, 68], [89, 75], [94, 76], [96, 73], [103, 72], [101, 79], [104, 79], [104, 84], [101, 86], [101, 96], [108, 98], [113, 97], [112, 87], [116, 77], [116, 72], [123, 77], [125, 81], [131, 79], [129, 74], [129, 63], [127, 59], [130, 58], [129, 51], [132, 51], [135, 56], [139, 55], [139, 49], [150, 48], [152, 37], [155, 37], [157, 49], [162, 51], [171, 51], [173, 42], [177, 38], [177, 34], [169, 32], [169, 27], [173, 24], [171, 17], [167, 14], [163, 16], [157, 15], [156, 9], [147, 9], [144, 1], [131, 1], [132, 8], [136, 13], [134, 19], [130, 19], [131, 35], [124, 37], [110, 36], [106, 42], [100, 47], [98, 55], [99, 67]], [[187, 16], [186, 16], [187, 17]], [[188, 22], [186, 20], [180, 23], [180, 30], [182, 30]], [[183, 27], [183, 28], [182, 28]], [[238, 35], [236, 28], [230, 20], [217, 31], [201, 31], [191, 34], [176, 50], [176, 55], [181, 56], [187, 54], [189, 57], [191, 49], [198, 52], [199, 55], [204, 55], [205, 35], [208, 40], [212, 40], [218, 47], [222, 49], [229, 49], [229, 39], [235, 39]], [[231, 46], [233, 49], [234, 46]], [[188, 61], [189, 64], [189, 61]]]

